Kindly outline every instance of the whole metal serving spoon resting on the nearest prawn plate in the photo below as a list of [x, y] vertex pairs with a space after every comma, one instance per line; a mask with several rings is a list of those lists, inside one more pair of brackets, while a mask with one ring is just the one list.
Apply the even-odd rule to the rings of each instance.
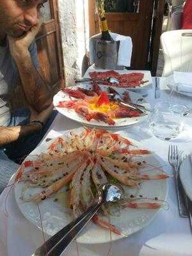
[[97, 202], [90, 206], [86, 212], [76, 220], [62, 228], [49, 240], [42, 244], [31, 256], [60, 256], [68, 245], [76, 238], [77, 234], [86, 226], [104, 203], [118, 202], [124, 195], [122, 187], [114, 184], [105, 184], [99, 191]]

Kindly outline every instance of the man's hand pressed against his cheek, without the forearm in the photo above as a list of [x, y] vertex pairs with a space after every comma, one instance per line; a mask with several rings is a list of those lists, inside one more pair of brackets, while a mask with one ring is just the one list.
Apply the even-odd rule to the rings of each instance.
[[28, 32], [19, 37], [8, 36], [10, 52], [14, 57], [20, 56], [28, 52], [28, 48], [35, 39], [40, 27], [42, 26], [42, 17], [39, 17], [38, 23], [33, 26]]

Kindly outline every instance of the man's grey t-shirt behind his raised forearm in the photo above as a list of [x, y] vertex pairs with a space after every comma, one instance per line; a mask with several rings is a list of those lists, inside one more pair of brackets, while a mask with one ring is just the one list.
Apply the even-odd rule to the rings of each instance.
[[[33, 42], [29, 47], [31, 60], [36, 68], [38, 68], [36, 44]], [[0, 46], [0, 126], [8, 126], [10, 124], [10, 104], [9, 95], [19, 83], [19, 71], [13, 60], [8, 43]]]

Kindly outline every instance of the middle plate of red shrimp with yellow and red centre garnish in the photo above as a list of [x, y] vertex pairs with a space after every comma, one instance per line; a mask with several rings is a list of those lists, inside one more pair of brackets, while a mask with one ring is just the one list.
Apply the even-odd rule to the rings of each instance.
[[[80, 84], [62, 89], [54, 96], [53, 102], [62, 115], [93, 127], [126, 127], [147, 118], [148, 111], [123, 106], [108, 97], [111, 92], [114, 95], [118, 90], [108, 87], [101, 89], [97, 83]], [[128, 104], [133, 102], [150, 109], [150, 104], [138, 93], [124, 90], [119, 94]]]

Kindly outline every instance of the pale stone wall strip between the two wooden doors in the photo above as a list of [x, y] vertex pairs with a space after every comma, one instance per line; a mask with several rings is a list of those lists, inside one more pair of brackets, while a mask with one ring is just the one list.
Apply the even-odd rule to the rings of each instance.
[[58, 0], [58, 3], [66, 86], [71, 86], [74, 85], [74, 78], [81, 76], [81, 65], [86, 52], [83, 6], [84, 3], [88, 6], [88, 0]]

